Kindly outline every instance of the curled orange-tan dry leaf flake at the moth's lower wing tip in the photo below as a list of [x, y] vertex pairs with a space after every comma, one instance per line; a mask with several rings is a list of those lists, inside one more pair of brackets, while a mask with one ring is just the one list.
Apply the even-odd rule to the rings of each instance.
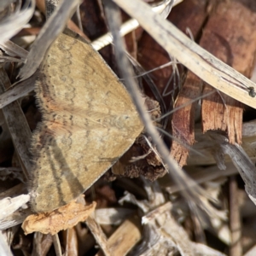
[[91, 212], [94, 212], [96, 202], [90, 206], [84, 206], [77, 202], [70, 202], [64, 207], [60, 207], [53, 212], [44, 212], [28, 216], [22, 224], [25, 234], [41, 232], [43, 234], [55, 235], [60, 230], [72, 228], [80, 221], [84, 221]]

